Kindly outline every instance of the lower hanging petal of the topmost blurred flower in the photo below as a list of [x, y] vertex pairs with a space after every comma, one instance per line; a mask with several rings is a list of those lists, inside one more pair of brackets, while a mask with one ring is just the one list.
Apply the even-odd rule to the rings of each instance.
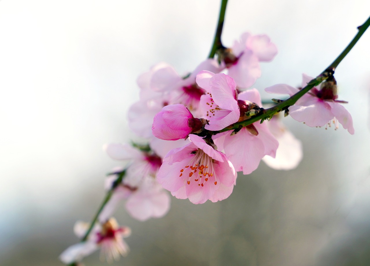
[[245, 51], [237, 64], [229, 68], [231, 76], [240, 88], [249, 88], [261, 76], [258, 57], [252, 51]]

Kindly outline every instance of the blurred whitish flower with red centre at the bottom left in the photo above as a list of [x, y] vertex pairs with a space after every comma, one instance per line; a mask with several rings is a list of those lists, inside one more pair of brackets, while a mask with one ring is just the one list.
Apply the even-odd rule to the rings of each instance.
[[[89, 227], [88, 223], [77, 222], [74, 226], [75, 234], [82, 238]], [[129, 248], [123, 238], [131, 234], [131, 229], [125, 226], [119, 227], [114, 218], [110, 218], [102, 224], [95, 224], [88, 239], [84, 242], [70, 246], [59, 256], [65, 264], [71, 264], [82, 260], [95, 250], [101, 248], [100, 258], [104, 257], [108, 262], [126, 256]]]

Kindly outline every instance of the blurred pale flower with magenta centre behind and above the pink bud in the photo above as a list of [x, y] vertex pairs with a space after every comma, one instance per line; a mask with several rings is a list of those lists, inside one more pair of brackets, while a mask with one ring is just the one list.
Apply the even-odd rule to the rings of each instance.
[[215, 59], [207, 59], [191, 74], [182, 78], [172, 66], [159, 63], [140, 75], [137, 79], [140, 100], [128, 112], [131, 130], [140, 137], [152, 137], [151, 127], [155, 114], [170, 104], [185, 105], [193, 115], [200, 116], [199, 99], [204, 90], [196, 85], [195, 77], [202, 70], [219, 72], [221, 67]]

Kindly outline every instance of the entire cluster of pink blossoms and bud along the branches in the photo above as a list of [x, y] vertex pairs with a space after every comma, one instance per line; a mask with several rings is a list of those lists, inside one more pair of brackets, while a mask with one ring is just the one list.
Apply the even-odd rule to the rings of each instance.
[[[237, 172], [250, 174], [261, 160], [277, 170], [297, 167], [302, 144], [283, 126], [278, 113], [263, 123], [239, 123], [265, 112], [252, 85], [261, 76], [260, 62], [272, 61], [276, 54], [268, 36], [244, 33], [232, 47], [220, 48], [217, 60], [206, 59], [190, 73], [179, 75], [161, 62], [140, 75], [140, 99], [130, 107], [128, 120], [131, 130], [148, 144], [104, 147], [108, 156], [125, 161], [125, 166], [114, 168], [106, 179], [110, 197], [97, 224], [83, 242], [65, 250], [61, 260], [79, 261], [99, 247], [108, 260], [125, 255], [128, 246], [122, 238], [130, 230], [112, 218], [123, 201], [129, 215], [145, 221], [169, 211], [167, 191], [194, 204], [216, 202], [231, 195]], [[303, 75], [302, 87], [312, 79]], [[265, 91], [292, 96], [299, 89], [278, 84]], [[353, 134], [345, 102], [337, 98], [331, 77], [285, 108], [285, 114], [310, 127], [333, 122], [337, 128], [341, 123]], [[75, 228], [80, 228], [75, 231], [81, 238], [87, 232], [80, 224]]]

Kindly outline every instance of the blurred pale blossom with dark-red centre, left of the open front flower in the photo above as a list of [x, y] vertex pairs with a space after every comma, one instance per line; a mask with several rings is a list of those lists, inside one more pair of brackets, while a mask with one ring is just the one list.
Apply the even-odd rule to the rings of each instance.
[[[164, 216], [170, 207], [169, 195], [157, 183], [155, 177], [162, 160], [155, 153], [135, 149], [128, 144], [108, 144], [105, 147], [108, 155], [116, 160], [131, 160], [122, 182], [115, 186], [113, 195], [104, 207], [100, 220], [110, 217], [117, 205], [126, 200], [127, 212], [140, 221]], [[122, 169], [115, 169], [105, 184], [106, 190], [113, 187]]]

